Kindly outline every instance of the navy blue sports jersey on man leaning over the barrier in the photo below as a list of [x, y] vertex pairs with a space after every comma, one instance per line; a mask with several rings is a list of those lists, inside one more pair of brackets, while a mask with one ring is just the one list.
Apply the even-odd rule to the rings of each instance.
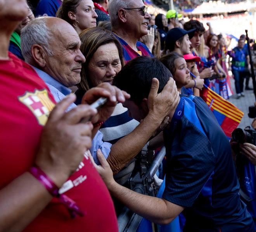
[[181, 97], [164, 142], [163, 198], [185, 207], [184, 231], [253, 232], [230, 144], [200, 97]]

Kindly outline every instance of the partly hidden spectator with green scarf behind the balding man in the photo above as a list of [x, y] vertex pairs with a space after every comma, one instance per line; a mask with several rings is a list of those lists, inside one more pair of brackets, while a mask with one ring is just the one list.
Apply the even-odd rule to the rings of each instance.
[[31, 10], [31, 8], [28, 7], [28, 13], [27, 16], [22, 20], [22, 22], [17, 26], [14, 32], [12, 32], [11, 38], [10, 38], [10, 45], [9, 45], [9, 51], [16, 55], [21, 60], [24, 60], [24, 57], [21, 53], [21, 29], [25, 27], [32, 19], [35, 19], [35, 16]]

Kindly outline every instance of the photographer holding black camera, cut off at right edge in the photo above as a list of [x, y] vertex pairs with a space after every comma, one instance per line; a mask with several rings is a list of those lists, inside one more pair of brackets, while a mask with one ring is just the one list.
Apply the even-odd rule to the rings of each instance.
[[240, 183], [240, 197], [254, 220], [256, 230], [256, 119], [252, 126], [232, 132], [230, 145]]

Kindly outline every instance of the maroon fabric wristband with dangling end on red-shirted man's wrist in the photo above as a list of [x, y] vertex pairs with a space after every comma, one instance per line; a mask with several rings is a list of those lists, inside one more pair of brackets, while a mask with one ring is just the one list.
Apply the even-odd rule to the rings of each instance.
[[85, 213], [80, 209], [75, 201], [69, 198], [65, 194], [59, 194], [59, 188], [54, 182], [40, 169], [40, 167], [31, 167], [29, 173], [34, 176], [54, 197], [58, 198], [59, 201], [67, 208], [71, 218], [75, 218], [76, 214], [83, 217]]

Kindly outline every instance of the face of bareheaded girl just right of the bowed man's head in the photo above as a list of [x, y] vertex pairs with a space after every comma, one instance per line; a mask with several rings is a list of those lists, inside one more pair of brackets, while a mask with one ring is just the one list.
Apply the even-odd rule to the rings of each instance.
[[176, 82], [178, 88], [181, 88], [190, 82], [190, 73], [187, 68], [187, 63], [183, 58], [178, 58], [175, 60], [176, 71], [173, 75], [173, 79]]

